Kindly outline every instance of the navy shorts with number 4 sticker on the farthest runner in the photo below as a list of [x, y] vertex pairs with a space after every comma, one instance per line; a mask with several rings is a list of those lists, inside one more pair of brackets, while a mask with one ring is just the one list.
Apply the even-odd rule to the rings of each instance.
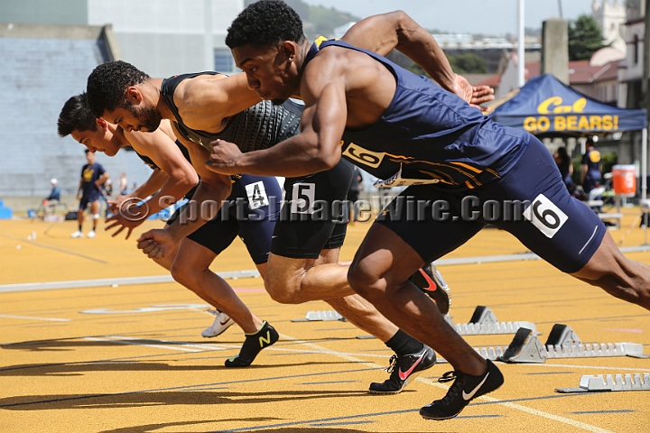
[[[244, 174], [233, 183], [228, 203], [219, 208], [217, 216], [187, 238], [219, 254], [238, 235], [253, 262], [266, 263], [281, 201], [282, 189], [275, 178]], [[187, 206], [177, 209], [167, 224]]]

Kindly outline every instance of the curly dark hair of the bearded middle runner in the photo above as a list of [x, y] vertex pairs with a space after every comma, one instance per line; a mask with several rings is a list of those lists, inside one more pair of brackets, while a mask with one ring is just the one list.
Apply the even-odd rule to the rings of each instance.
[[122, 60], [102, 63], [88, 76], [88, 107], [101, 117], [106, 111], [126, 105], [126, 88], [142, 84], [150, 77]]

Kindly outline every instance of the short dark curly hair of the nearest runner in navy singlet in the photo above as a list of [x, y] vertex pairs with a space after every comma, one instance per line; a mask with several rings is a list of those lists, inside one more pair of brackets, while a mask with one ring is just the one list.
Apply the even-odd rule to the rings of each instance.
[[228, 27], [226, 45], [233, 49], [278, 45], [283, 41], [306, 41], [300, 16], [279, 0], [262, 0], [248, 5]]

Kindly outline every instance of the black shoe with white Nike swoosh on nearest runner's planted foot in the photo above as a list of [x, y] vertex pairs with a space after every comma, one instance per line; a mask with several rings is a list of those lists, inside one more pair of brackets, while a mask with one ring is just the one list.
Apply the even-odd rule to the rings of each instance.
[[447, 395], [442, 400], [433, 401], [431, 404], [420, 409], [423, 419], [451, 419], [465, 409], [469, 401], [495, 391], [504, 382], [503, 374], [487, 360], [487, 372], [478, 376], [460, 372], [447, 372], [442, 375], [438, 382], [450, 382], [456, 379], [451, 385]]

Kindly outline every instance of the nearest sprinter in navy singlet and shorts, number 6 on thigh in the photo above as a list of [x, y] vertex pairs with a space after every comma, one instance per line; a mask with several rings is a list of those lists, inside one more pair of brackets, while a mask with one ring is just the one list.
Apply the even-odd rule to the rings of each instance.
[[[211, 164], [222, 173], [298, 176], [325, 170], [342, 155], [385, 186], [409, 187], [404, 196], [416, 206], [395, 217], [386, 209], [387, 218], [359, 247], [348, 281], [454, 367], [445, 374], [454, 381], [447, 395], [420, 410], [425, 419], [450, 419], [504, 379], [407, 281], [425, 260], [449, 253], [490, 222], [562, 271], [645, 309], [650, 268], [625, 258], [599, 218], [569, 196], [542, 143], [471, 111], [450, 93], [464, 96], [430, 33], [402, 12], [381, 16], [319, 47], [306, 40], [300, 16], [282, 1], [248, 5], [228, 28], [226, 44], [260, 97], [277, 104], [304, 100], [302, 133], [243, 155], [219, 143]], [[392, 26], [393, 37], [385, 37], [385, 26]], [[449, 92], [358, 46], [380, 54], [402, 47]], [[476, 200], [478, 216], [463, 212], [465, 198]], [[519, 207], [506, 212], [506, 202]]]

